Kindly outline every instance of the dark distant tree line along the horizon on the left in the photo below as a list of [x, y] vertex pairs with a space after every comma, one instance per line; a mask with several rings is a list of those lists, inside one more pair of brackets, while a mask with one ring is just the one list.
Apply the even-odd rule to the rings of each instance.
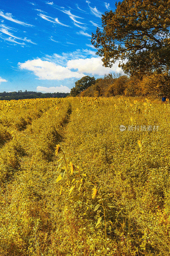
[[0, 100], [23, 100], [23, 99], [37, 99], [37, 98], [65, 98], [70, 93], [54, 92], [54, 93], [42, 93], [42, 92], [0, 92]]

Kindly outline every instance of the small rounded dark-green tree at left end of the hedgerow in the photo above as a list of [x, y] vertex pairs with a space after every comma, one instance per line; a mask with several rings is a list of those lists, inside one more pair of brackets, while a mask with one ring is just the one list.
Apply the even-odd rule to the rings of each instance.
[[77, 96], [80, 92], [86, 90], [89, 86], [95, 83], [94, 76], [83, 76], [80, 80], [75, 82], [75, 87], [70, 91], [70, 96]]

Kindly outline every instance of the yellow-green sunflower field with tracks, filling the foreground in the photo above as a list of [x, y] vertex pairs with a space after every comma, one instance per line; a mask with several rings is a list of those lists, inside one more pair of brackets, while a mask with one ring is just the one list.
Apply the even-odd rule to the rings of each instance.
[[169, 256], [170, 103], [0, 101], [0, 256]]

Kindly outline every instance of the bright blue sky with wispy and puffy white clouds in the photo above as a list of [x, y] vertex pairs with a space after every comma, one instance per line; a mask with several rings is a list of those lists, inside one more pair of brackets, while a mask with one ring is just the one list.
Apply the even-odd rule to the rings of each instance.
[[0, 92], [69, 92], [83, 76], [119, 72], [91, 44], [109, 10], [115, 1], [0, 0]]

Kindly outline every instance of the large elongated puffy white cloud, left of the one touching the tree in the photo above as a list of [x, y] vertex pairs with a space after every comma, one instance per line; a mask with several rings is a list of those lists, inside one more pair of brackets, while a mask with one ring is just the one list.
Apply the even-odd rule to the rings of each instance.
[[43, 80], [63, 80], [65, 78], [82, 78], [84, 74], [73, 72], [67, 67], [55, 65], [52, 62], [36, 59], [27, 60], [24, 63], [18, 62], [19, 68], [28, 69]]

